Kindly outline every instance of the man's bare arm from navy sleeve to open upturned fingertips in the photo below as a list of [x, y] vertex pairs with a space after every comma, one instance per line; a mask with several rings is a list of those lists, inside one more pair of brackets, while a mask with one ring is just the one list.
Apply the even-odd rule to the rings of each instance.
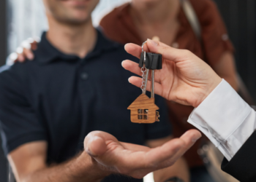
[[190, 130], [181, 138], [149, 149], [121, 143], [113, 135], [97, 131], [86, 136], [85, 151], [63, 164], [46, 164], [45, 141], [26, 143], [10, 152], [8, 159], [18, 182], [100, 181], [112, 173], [143, 178], [154, 170], [173, 165], [198, 138], [200, 132]]

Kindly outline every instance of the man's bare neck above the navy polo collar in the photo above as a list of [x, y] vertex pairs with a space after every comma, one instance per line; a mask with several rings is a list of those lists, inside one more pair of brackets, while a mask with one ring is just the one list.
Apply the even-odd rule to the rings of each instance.
[[46, 34], [48, 41], [64, 54], [84, 58], [94, 49], [97, 31], [91, 19], [80, 25], [67, 25], [59, 23], [53, 17], [48, 17], [48, 23], [49, 30]]

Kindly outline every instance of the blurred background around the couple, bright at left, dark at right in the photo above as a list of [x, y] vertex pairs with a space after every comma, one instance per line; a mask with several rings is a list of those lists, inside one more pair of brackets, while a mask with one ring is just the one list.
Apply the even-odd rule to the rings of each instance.
[[[93, 22], [111, 9], [129, 0], [101, 0], [93, 13]], [[252, 98], [256, 100], [256, 1], [215, 0], [236, 48], [236, 68]], [[48, 25], [42, 0], [0, 1], [0, 66], [21, 41], [40, 36]], [[0, 149], [0, 182], [7, 182], [7, 160]]]

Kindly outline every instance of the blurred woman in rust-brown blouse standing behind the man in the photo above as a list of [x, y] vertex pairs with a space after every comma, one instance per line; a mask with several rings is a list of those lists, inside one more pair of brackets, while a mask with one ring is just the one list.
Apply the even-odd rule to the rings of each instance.
[[[146, 39], [158, 36], [165, 44], [190, 50], [206, 60], [219, 76], [237, 90], [233, 45], [228, 39], [216, 5], [211, 0], [190, 2], [200, 22], [201, 41], [189, 24], [179, 0], [132, 0], [131, 3], [113, 9], [102, 18], [100, 25], [106, 36], [121, 44], [132, 42], [141, 45]], [[172, 102], [168, 106], [174, 137], [193, 128], [187, 123], [192, 107]], [[192, 181], [210, 182], [205, 178], [207, 172], [197, 154], [200, 143], [202, 140], [197, 141], [184, 157], [191, 169]], [[197, 176], [194, 178], [194, 175]]]

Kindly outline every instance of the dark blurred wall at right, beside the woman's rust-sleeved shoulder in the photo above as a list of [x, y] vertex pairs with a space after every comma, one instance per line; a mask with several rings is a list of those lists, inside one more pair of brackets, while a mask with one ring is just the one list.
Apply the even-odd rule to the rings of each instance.
[[256, 101], [256, 1], [214, 0], [236, 49], [236, 66]]

